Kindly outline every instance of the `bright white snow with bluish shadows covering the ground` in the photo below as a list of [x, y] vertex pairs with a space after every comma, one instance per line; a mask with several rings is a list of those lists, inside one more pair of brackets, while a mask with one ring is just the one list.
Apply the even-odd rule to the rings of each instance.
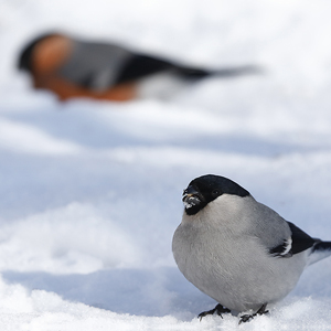
[[[171, 253], [182, 190], [216, 173], [331, 239], [331, 4], [325, 0], [0, 1], [1, 330], [330, 330], [331, 259], [270, 313], [215, 302]], [[205, 67], [205, 79], [127, 104], [60, 104], [14, 68], [56, 30]]]

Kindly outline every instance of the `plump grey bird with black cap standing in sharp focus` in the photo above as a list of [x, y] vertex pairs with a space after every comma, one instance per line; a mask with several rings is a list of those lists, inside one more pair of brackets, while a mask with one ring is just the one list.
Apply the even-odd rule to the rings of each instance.
[[195, 178], [182, 201], [174, 260], [190, 282], [218, 302], [200, 319], [254, 311], [239, 317], [243, 323], [265, 314], [307, 266], [331, 255], [331, 242], [312, 238], [225, 177]]

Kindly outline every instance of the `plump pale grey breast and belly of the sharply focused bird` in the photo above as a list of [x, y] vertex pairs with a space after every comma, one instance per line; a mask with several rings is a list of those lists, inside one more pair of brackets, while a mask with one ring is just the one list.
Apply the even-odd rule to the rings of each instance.
[[[232, 207], [235, 199], [228, 200], [224, 209], [222, 200], [216, 200], [196, 215], [184, 214], [173, 236], [173, 255], [182, 274], [234, 310], [255, 309], [281, 299], [296, 285], [305, 265], [299, 256], [289, 261], [269, 255], [263, 234], [252, 231], [254, 223], [260, 223], [261, 215], [268, 216], [269, 211], [258, 212], [264, 206], [252, 199], [243, 202], [253, 204], [250, 214], [243, 212], [244, 205]], [[257, 221], [254, 215], [259, 215]], [[279, 221], [277, 215], [275, 224]]]

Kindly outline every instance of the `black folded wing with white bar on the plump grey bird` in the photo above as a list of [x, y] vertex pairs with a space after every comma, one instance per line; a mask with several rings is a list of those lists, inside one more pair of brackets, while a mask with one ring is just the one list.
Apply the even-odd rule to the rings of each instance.
[[312, 238], [291, 222], [287, 222], [287, 224], [290, 227], [291, 235], [288, 238], [284, 238], [279, 245], [269, 249], [269, 254], [273, 256], [291, 257], [293, 254], [311, 248], [319, 242], [319, 239]]

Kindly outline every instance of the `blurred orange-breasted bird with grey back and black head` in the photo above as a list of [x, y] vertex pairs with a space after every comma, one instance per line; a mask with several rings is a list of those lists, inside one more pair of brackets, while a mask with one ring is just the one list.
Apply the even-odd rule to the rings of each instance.
[[34, 88], [51, 90], [62, 102], [73, 97], [132, 100], [140, 97], [146, 78], [161, 73], [195, 82], [211, 75], [235, 77], [260, 72], [255, 65], [197, 68], [118, 42], [83, 40], [57, 31], [29, 41], [19, 53], [17, 67], [32, 77]]

